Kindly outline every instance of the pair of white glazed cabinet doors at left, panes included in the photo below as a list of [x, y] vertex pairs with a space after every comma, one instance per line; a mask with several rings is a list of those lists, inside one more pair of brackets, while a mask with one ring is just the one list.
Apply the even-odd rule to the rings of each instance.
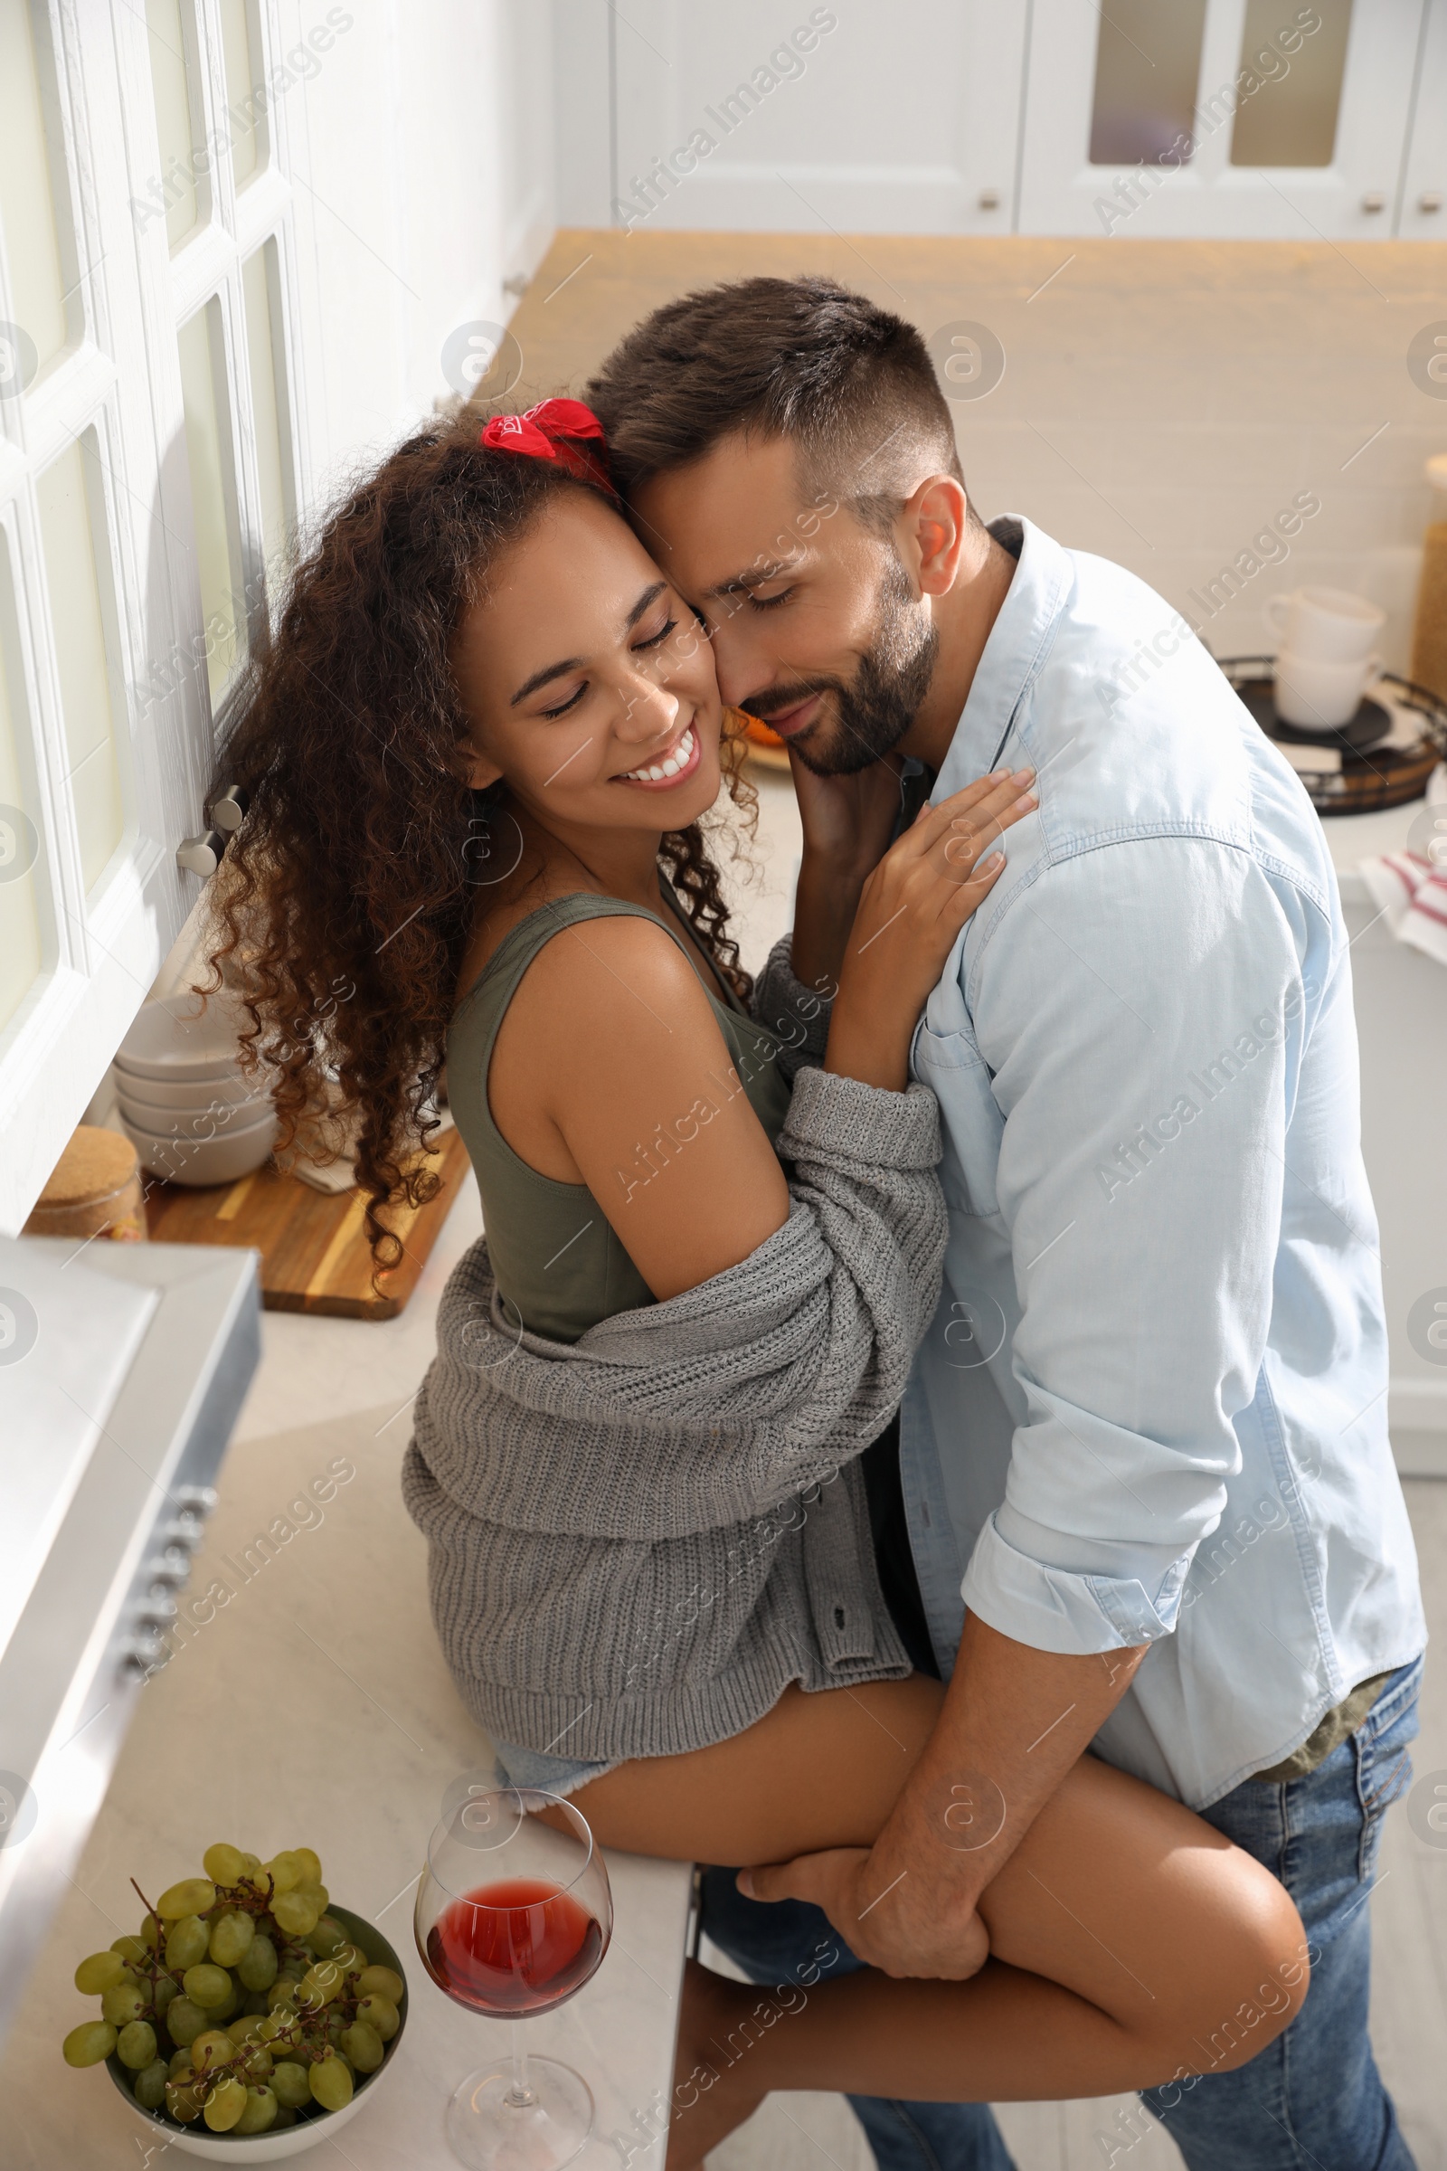
[[278, 59], [247, 0], [0, 0], [2, 1231], [195, 901], [297, 506]]

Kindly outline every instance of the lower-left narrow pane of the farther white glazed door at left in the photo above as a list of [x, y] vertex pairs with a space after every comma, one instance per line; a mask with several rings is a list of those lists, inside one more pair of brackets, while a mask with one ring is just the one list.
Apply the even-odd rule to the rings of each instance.
[[206, 680], [215, 708], [245, 653], [241, 530], [219, 306], [208, 302], [182, 328], [176, 343], [180, 347], [180, 395], [187, 408], [195, 560], [206, 621]]

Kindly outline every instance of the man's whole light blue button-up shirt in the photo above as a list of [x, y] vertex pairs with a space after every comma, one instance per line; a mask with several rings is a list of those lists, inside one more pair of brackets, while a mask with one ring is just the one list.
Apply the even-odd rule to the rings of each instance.
[[1198, 1808], [1425, 1643], [1321, 823], [1185, 619], [1024, 523], [935, 801], [1039, 812], [929, 999], [946, 1287], [900, 1468], [963, 1609], [1150, 1643], [1096, 1748]]

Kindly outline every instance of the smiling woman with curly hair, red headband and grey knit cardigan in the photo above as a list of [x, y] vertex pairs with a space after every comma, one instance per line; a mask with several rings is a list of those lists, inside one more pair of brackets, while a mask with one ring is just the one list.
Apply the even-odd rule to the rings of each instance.
[[[356, 1109], [380, 1264], [447, 1055], [488, 1240], [449, 1283], [404, 1483], [508, 1774], [683, 1861], [868, 1848], [942, 1696], [883, 1604], [859, 1481], [944, 1250], [907, 1049], [1030, 779], [924, 810], [833, 1005], [785, 942], [751, 1018], [699, 829], [709, 647], [599, 434], [575, 402], [482, 443], [425, 430], [332, 519], [228, 749], [249, 812], [217, 955], [282, 1116], [323, 1090]], [[690, 1969], [679, 2069], [712, 2082], [675, 2095], [673, 2160], [777, 2086], [1165, 2082], [1256, 1999], [1215, 2060], [1243, 2062], [1297, 2010], [1299, 1952], [1267, 1871], [1083, 1759], [989, 1884], [961, 1980], [822, 1984], [725, 2067], [707, 2045], [757, 1993]]]

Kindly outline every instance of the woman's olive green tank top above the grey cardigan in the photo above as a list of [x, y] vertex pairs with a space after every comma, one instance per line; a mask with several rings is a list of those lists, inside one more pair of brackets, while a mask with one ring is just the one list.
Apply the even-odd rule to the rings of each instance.
[[[670, 892], [664, 894], [673, 903]], [[696, 949], [694, 936], [686, 931], [681, 905], [675, 905], [679, 927], [668, 927], [657, 914], [616, 897], [579, 892], [555, 899], [529, 912], [503, 936], [458, 1003], [447, 1033], [447, 1099], [477, 1175], [497, 1287], [512, 1324], [521, 1322], [549, 1342], [577, 1342], [588, 1326], [612, 1318], [614, 1311], [651, 1305], [653, 1292], [588, 1185], [555, 1183], [512, 1151], [488, 1107], [488, 1066], [508, 1003], [538, 951], [564, 927], [614, 914], [653, 921], [679, 949]], [[694, 1101], [690, 1109], [679, 1109], [670, 1127], [660, 1125], [651, 1140], [640, 1140], [636, 1159], [618, 1170], [620, 1198], [629, 1194], [629, 1185], [642, 1190], [668, 1159], [688, 1148], [688, 1140], [699, 1135], [699, 1122], [709, 1120], [707, 1107], [722, 1107], [740, 1090], [770, 1142], [783, 1129], [790, 1081], [777, 1064], [781, 1038], [755, 1025], [738, 999], [727, 1005], [709, 992], [709, 1003], [733, 1070], [709, 1075], [703, 1105]], [[588, 1062], [588, 1051], [579, 1049], [577, 1059]]]

